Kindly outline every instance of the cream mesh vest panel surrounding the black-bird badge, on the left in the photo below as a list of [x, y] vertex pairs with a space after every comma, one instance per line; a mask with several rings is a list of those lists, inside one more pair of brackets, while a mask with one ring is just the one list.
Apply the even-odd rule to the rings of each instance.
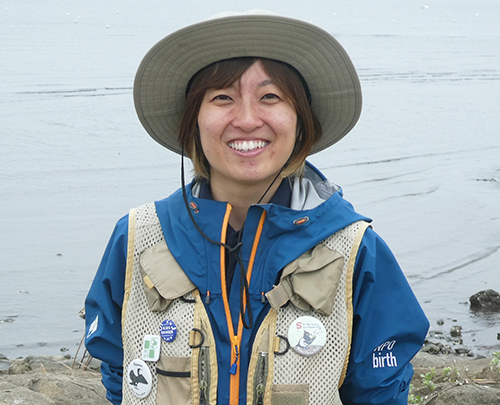
[[[164, 240], [160, 222], [156, 215], [154, 204], [147, 204], [137, 208], [134, 250], [134, 271], [130, 298], [126, 308], [123, 325], [124, 371], [134, 359], [141, 357], [142, 339], [144, 335], [159, 335], [160, 324], [165, 319], [176, 319], [183, 325], [194, 324], [194, 303], [174, 300], [167, 311], [152, 312], [149, 310], [144, 294], [143, 281], [140, 274], [139, 259], [148, 248]], [[192, 296], [189, 298], [193, 298]], [[177, 329], [177, 337], [166, 344], [162, 342], [161, 354], [172, 357], [191, 357], [191, 348], [188, 345], [190, 328]], [[154, 405], [158, 376], [156, 363], [147, 362], [153, 376], [153, 389], [144, 399], [137, 398], [129, 389], [127, 378], [123, 378], [123, 405]]]

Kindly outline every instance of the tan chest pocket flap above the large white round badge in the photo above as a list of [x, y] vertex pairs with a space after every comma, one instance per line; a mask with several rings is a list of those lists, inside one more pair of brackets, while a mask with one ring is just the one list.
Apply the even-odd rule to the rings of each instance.
[[344, 267], [344, 257], [320, 244], [297, 259], [290, 275], [294, 294], [323, 315], [330, 315]]

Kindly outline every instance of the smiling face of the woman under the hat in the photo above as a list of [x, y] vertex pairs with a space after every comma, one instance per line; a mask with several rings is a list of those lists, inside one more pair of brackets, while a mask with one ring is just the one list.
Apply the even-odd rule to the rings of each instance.
[[265, 189], [295, 145], [297, 114], [260, 61], [225, 89], [209, 89], [198, 114], [212, 185]]

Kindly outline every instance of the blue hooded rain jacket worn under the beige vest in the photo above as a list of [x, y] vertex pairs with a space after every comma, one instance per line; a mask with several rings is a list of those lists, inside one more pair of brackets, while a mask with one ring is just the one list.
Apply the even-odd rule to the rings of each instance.
[[[250, 305], [254, 328], [244, 329], [240, 347], [240, 403], [245, 403], [249, 356], [254, 335], [269, 311], [261, 301], [262, 292], [277, 283], [279, 272], [291, 261], [336, 231], [359, 220], [343, 199], [339, 188], [330, 185], [319, 171], [308, 165], [307, 187], [294, 191], [301, 210], [274, 204], [250, 207], [243, 233], [242, 256], [245, 266], [252, 248], [262, 210], [266, 221], [250, 283]], [[314, 187], [313, 187], [314, 185]], [[187, 187], [188, 199], [198, 206], [198, 226], [211, 239], [220, 240], [226, 203], [193, 196], [193, 184]], [[194, 191], [196, 195], [196, 191]], [[297, 198], [297, 195], [299, 197]], [[297, 201], [292, 207], [297, 208]], [[193, 226], [181, 191], [155, 203], [167, 245], [204, 298], [216, 339], [219, 367], [219, 404], [228, 403], [231, 341], [225, 319], [220, 282], [220, 247], [208, 242]], [[300, 227], [294, 220], [307, 216]], [[89, 334], [89, 352], [103, 361], [103, 384], [108, 399], [121, 402], [123, 348], [121, 340], [121, 307], [124, 295], [128, 216], [120, 219], [104, 253], [101, 265], [86, 299], [87, 332], [99, 317], [98, 328]], [[238, 270], [236, 273], [238, 274]], [[356, 258], [353, 279], [354, 323], [347, 375], [340, 389], [344, 404], [406, 404], [413, 369], [409, 361], [425, 339], [428, 321], [420, 308], [398, 263], [384, 241], [368, 228]], [[230, 287], [229, 304], [233, 325], [239, 317], [239, 277]], [[217, 319], [218, 321], [215, 321]], [[394, 346], [391, 358], [384, 360], [387, 345]], [[385, 347], [384, 347], [385, 345]], [[392, 356], [394, 360], [392, 360]], [[397, 359], [397, 361], [396, 361]], [[391, 361], [391, 367], [385, 367]], [[228, 370], [224, 373], [223, 370]]]

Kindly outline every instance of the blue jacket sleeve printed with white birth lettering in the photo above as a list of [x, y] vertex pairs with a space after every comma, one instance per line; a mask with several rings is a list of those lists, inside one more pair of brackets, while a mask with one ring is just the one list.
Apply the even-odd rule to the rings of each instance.
[[410, 360], [429, 322], [385, 242], [368, 228], [353, 277], [353, 331], [342, 402], [406, 405]]

